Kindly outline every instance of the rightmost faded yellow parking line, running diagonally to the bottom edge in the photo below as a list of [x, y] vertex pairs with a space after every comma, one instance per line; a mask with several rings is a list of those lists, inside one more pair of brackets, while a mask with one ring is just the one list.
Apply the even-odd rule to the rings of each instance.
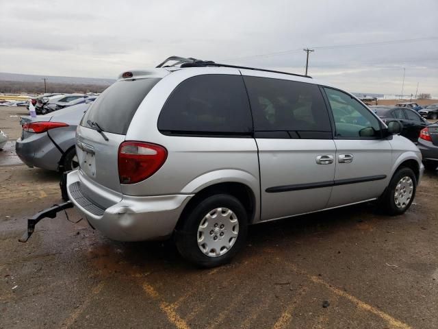
[[[277, 257], [276, 259], [280, 260], [279, 257]], [[362, 310], [366, 310], [370, 313], [373, 313], [374, 315], [377, 315], [381, 319], [385, 320], [391, 328], [411, 329], [411, 326], [409, 326], [408, 324], [405, 324], [404, 322], [402, 322], [394, 317], [391, 317], [391, 315], [383, 312], [382, 310], [379, 310], [378, 308], [375, 308], [374, 306], [371, 306], [370, 304], [367, 304], [367, 303], [359, 300], [359, 298], [357, 298], [353, 295], [350, 295], [349, 293], [346, 293], [342, 289], [334, 287], [333, 284], [328, 284], [327, 282], [322, 280], [322, 278], [320, 278], [318, 276], [311, 276], [310, 274], [306, 273], [305, 271], [298, 269], [298, 267], [296, 267], [296, 265], [289, 263], [283, 259], [281, 259], [281, 263], [287, 265], [287, 267], [292, 269], [294, 272], [301, 274], [303, 276], [306, 276], [312, 282], [322, 284], [322, 286], [333, 291], [333, 293], [335, 293], [336, 295], [339, 295], [341, 297], [346, 298], [347, 300], [350, 300], [350, 302], [355, 304], [358, 308], [361, 308]]]

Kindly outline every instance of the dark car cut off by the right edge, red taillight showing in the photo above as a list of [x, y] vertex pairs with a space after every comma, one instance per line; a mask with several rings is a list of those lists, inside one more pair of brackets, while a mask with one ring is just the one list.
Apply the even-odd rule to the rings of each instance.
[[422, 152], [423, 164], [426, 169], [435, 170], [438, 167], [438, 123], [429, 125], [420, 132], [417, 147]]

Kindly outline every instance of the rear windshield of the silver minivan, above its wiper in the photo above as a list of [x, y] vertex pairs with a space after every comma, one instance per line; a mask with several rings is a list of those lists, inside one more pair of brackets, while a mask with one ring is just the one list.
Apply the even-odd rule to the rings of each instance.
[[125, 135], [138, 106], [159, 80], [122, 80], [112, 84], [90, 106], [81, 125], [88, 127], [87, 121], [90, 120], [104, 132]]

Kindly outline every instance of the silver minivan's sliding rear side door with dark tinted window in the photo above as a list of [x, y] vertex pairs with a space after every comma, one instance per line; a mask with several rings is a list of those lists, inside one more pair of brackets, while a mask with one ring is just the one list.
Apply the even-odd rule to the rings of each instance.
[[324, 209], [335, 142], [318, 86], [242, 71], [259, 149], [261, 221]]

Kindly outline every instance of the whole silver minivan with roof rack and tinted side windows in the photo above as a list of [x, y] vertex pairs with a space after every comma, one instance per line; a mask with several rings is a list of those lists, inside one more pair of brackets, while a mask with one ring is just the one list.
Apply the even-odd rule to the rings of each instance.
[[405, 212], [424, 167], [400, 128], [311, 77], [169, 58], [94, 101], [68, 196], [112, 239], [173, 236], [214, 267], [251, 224], [372, 200]]

